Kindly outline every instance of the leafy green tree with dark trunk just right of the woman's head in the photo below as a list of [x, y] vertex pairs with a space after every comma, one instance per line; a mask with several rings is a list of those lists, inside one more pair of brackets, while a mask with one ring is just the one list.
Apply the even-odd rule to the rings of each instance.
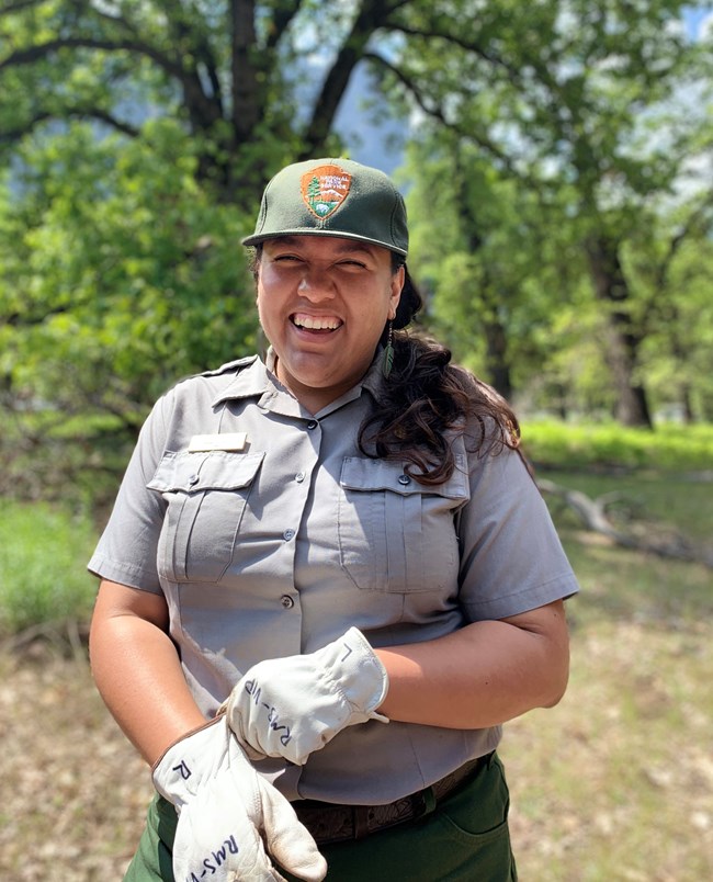
[[559, 350], [552, 317], [582, 272], [562, 216], [452, 133], [412, 142], [404, 176], [430, 323], [503, 397], [531, 389]]

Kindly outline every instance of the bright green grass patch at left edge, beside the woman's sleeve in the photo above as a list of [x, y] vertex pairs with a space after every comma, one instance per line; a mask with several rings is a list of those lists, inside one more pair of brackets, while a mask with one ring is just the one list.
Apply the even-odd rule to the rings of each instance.
[[86, 621], [97, 591], [87, 562], [90, 520], [45, 505], [0, 508], [0, 634], [65, 619]]

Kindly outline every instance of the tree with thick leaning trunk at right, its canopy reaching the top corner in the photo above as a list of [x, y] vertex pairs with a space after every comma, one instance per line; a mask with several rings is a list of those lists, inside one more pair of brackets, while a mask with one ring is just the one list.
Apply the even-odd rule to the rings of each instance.
[[[409, 31], [420, 52], [410, 45], [388, 84], [416, 101], [434, 131], [477, 145], [543, 204], [557, 202], [564, 184], [606, 318], [601, 343], [616, 416], [650, 426], [646, 327], [624, 250], [641, 213], [678, 181], [699, 169], [698, 189], [710, 190], [710, 41], [687, 38], [683, 4], [671, 0], [535, 2], [527, 14], [509, 2], [469, 8], [475, 41], [461, 20], [443, 25], [440, 41], [427, 38], [439, 7]], [[695, 102], [684, 103], [691, 93]]]

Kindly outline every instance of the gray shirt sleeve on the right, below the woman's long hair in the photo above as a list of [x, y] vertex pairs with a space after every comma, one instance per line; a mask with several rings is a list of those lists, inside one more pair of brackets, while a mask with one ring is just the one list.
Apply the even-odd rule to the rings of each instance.
[[456, 522], [466, 619], [503, 619], [576, 593], [575, 574], [519, 453], [473, 454], [471, 466], [471, 500]]

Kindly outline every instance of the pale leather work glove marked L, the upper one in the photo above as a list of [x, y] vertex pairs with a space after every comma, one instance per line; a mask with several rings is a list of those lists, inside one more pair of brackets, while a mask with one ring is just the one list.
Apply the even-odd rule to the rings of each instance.
[[388, 723], [374, 710], [387, 690], [386, 669], [361, 631], [350, 627], [315, 653], [253, 665], [220, 711], [251, 759], [284, 757], [303, 766], [342, 728]]

